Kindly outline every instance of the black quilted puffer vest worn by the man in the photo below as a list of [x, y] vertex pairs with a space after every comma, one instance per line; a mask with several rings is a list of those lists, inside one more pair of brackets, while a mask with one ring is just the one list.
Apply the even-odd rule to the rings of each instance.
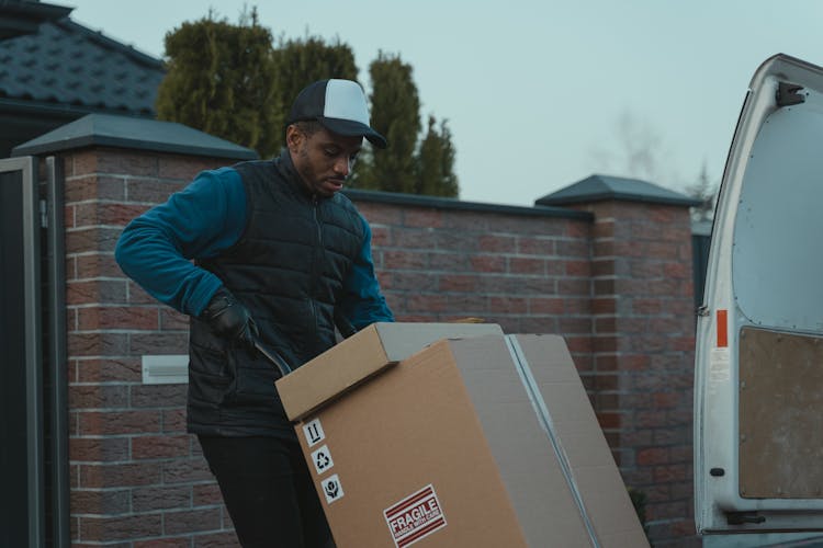
[[[316, 198], [284, 152], [235, 165], [246, 190], [240, 240], [200, 265], [251, 312], [261, 339], [298, 367], [335, 344], [335, 302], [365, 237], [340, 193]], [[205, 435], [292, 435], [274, 380], [259, 353], [214, 335], [196, 318], [190, 330], [189, 431]]]

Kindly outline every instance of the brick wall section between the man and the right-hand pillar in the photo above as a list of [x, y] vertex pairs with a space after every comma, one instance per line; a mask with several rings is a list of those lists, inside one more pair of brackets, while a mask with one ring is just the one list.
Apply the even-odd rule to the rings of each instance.
[[505, 214], [449, 201], [387, 204], [369, 193], [352, 198], [371, 225], [381, 287], [399, 321], [478, 317], [508, 333], [562, 332], [586, 362], [588, 216]]

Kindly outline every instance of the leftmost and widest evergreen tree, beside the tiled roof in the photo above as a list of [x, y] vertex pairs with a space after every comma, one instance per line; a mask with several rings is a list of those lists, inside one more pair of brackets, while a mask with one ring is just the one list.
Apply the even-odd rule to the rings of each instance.
[[167, 73], [157, 116], [256, 149], [269, 157], [282, 128], [277, 116], [272, 36], [257, 11], [238, 24], [206, 18], [166, 34]]

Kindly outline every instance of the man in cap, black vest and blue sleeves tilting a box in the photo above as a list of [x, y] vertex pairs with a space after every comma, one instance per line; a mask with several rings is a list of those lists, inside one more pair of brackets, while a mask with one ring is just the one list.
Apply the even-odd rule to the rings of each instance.
[[[275, 367], [393, 321], [371, 258], [371, 231], [339, 193], [369, 126], [357, 82], [304, 89], [271, 161], [200, 173], [134, 219], [117, 242], [123, 271], [191, 316], [188, 429], [198, 435], [245, 547], [332, 546]], [[195, 262], [191, 263], [190, 260]]]

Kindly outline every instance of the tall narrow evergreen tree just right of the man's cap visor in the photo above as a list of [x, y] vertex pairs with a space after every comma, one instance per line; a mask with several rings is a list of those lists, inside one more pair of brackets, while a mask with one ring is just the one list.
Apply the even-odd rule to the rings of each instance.
[[369, 67], [371, 125], [388, 140], [385, 150], [371, 149], [358, 161], [354, 183], [360, 189], [415, 193], [415, 149], [420, 133], [420, 100], [412, 66], [399, 55], [383, 52]]

